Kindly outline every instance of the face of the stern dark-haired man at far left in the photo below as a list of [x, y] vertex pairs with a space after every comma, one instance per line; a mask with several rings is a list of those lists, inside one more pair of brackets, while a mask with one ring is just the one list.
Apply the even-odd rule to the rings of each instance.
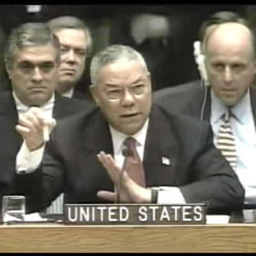
[[6, 69], [19, 100], [27, 106], [41, 106], [54, 93], [58, 67], [54, 46], [46, 44], [18, 50]]

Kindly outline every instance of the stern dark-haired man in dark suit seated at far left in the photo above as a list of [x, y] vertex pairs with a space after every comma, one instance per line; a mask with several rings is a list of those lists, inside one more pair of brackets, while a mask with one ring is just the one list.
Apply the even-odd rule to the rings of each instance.
[[[8, 127], [4, 124], [1, 134], [2, 153], [10, 161], [0, 162], [2, 173], [8, 172], [9, 185], [14, 175], [11, 165], [15, 166], [15, 156], [23, 141], [15, 125], [31, 106], [41, 108], [44, 115], [56, 119], [74, 115], [90, 106], [89, 103], [61, 97], [54, 92], [59, 61], [58, 38], [51, 34], [45, 24], [26, 23], [12, 30], [5, 50], [5, 65], [12, 91], [0, 96], [0, 114], [10, 124]], [[5, 137], [6, 133], [10, 136]], [[6, 138], [11, 139], [8, 141]]]

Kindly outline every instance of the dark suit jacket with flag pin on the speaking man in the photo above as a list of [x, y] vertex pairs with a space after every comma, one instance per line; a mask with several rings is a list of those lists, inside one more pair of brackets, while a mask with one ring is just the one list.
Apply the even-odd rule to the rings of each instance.
[[[209, 127], [153, 107], [143, 159], [147, 187], [178, 186], [189, 203], [239, 207], [244, 190], [213, 147]], [[44, 209], [62, 190], [66, 203], [103, 203], [97, 191], [114, 186], [97, 159], [101, 150], [113, 154], [109, 126], [98, 108], [59, 123], [46, 147], [43, 175], [42, 167], [17, 175], [18, 191], [29, 198], [28, 211]], [[163, 164], [162, 157], [171, 165]]]

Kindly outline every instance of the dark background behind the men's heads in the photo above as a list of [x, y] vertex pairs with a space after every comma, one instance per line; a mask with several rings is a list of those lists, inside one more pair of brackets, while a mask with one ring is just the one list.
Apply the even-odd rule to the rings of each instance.
[[[4, 38], [10, 30], [25, 22], [45, 22], [60, 15], [74, 15], [83, 19], [91, 29], [93, 53], [103, 47], [121, 43], [131, 45], [146, 59], [153, 89], [174, 86], [198, 78], [194, 63], [193, 42], [198, 39], [201, 23], [217, 11], [235, 11], [246, 17], [247, 5], [206, 4], [84, 4], [41, 5], [38, 13], [29, 13], [25, 5], [0, 5], [0, 88], [9, 90], [10, 85], [3, 67]], [[167, 38], [147, 38], [137, 44], [131, 36], [131, 20], [138, 14], [164, 15], [169, 21], [170, 35]], [[164, 41], [163, 41], [164, 39]], [[165, 43], [163, 43], [165, 42]], [[90, 59], [88, 61], [90, 63]], [[87, 91], [90, 84], [89, 63], [79, 89]]]

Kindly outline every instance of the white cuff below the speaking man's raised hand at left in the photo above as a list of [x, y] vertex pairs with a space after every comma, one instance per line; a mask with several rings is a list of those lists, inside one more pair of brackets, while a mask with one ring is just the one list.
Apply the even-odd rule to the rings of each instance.
[[34, 151], [29, 151], [25, 142], [19, 150], [16, 157], [16, 172], [31, 173], [34, 172], [40, 165], [43, 159], [45, 144]]

